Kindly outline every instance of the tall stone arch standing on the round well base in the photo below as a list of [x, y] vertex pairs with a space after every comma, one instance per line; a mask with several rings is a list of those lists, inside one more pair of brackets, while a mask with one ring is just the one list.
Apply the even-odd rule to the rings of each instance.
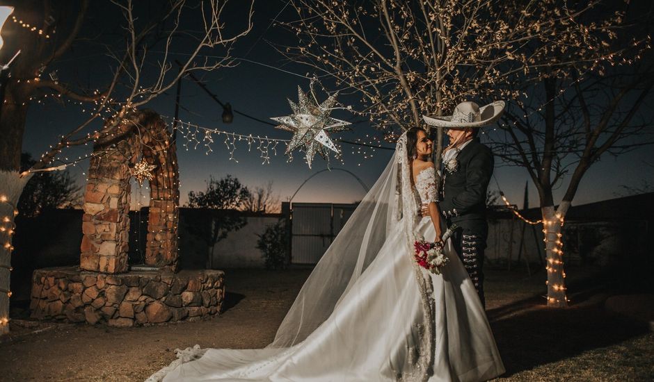
[[166, 123], [152, 110], [126, 118], [93, 147], [84, 194], [80, 268], [92, 272], [129, 270], [131, 167], [154, 165], [150, 183], [145, 264], [176, 272], [179, 222], [177, 152]]

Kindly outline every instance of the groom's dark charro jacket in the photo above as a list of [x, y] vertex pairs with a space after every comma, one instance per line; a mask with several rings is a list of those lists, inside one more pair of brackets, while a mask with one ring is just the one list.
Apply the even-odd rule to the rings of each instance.
[[451, 222], [486, 219], [486, 192], [493, 175], [493, 152], [473, 138], [456, 158], [458, 169], [442, 169], [440, 210]]

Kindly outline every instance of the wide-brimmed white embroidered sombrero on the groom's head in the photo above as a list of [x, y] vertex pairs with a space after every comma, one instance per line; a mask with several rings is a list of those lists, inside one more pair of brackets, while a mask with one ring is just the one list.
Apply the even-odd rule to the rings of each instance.
[[422, 119], [431, 126], [461, 129], [492, 124], [500, 118], [503, 111], [504, 101], [488, 103], [488, 105], [482, 106], [481, 108], [477, 103], [464, 101], [456, 105], [452, 115], [445, 115], [443, 117], [427, 117], [423, 115]]

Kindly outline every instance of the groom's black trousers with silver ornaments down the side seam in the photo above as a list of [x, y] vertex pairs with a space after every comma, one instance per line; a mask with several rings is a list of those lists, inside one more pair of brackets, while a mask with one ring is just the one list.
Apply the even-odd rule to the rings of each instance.
[[[452, 222], [447, 222], [448, 226]], [[481, 305], [486, 308], [484, 298], [484, 249], [488, 238], [488, 222], [486, 220], [463, 220], [454, 222], [459, 228], [452, 235], [452, 244], [458, 257], [468, 271], [468, 275], [477, 289]]]

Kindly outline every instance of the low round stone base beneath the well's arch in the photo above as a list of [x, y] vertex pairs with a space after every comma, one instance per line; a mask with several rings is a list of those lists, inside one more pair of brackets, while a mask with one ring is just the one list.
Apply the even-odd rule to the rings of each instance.
[[31, 317], [109, 326], [196, 321], [220, 312], [223, 271], [99, 274], [79, 267], [37, 269]]

